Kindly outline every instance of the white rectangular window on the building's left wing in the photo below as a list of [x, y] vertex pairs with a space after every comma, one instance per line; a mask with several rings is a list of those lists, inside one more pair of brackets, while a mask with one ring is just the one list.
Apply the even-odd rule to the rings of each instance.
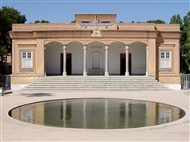
[[21, 51], [21, 68], [33, 68], [32, 51]]

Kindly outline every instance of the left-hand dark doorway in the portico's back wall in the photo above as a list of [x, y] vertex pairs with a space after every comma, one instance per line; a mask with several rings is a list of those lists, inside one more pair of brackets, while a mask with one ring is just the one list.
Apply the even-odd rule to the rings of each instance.
[[[63, 53], [60, 54], [60, 74], [63, 74]], [[67, 75], [71, 75], [72, 74], [72, 54], [71, 53], [67, 53], [67, 57], [66, 57], [66, 72]]]

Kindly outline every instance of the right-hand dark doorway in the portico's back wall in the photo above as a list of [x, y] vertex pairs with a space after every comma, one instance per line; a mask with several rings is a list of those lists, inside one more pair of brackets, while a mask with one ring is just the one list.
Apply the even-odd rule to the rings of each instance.
[[[129, 75], [131, 75], [131, 53], [129, 53], [129, 63], [128, 63], [128, 69], [129, 69]], [[121, 53], [120, 54], [120, 75], [125, 75], [126, 71], [126, 54]]]

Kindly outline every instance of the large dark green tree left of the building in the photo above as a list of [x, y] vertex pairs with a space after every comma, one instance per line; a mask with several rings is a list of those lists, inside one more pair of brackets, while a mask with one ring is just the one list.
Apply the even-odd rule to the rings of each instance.
[[21, 15], [20, 12], [14, 8], [3, 6], [0, 9], [0, 74], [7, 74], [3, 69], [4, 66], [3, 57], [7, 56], [12, 51], [12, 42], [9, 37], [9, 31], [12, 30], [12, 24], [25, 23], [25, 15]]

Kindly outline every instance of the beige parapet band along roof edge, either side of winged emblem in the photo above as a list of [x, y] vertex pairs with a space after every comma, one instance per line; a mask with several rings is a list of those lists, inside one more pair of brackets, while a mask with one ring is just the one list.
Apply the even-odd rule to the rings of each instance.
[[[85, 24], [84, 24], [85, 25]], [[88, 25], [88, 24], [87, 24]], [[101, 24], [100, 24], [101, 25]], [[102, 24], [105, 25], [105, 24]], [[179, 24], [117, 23], [118, 30], [132, 31], [180, 31]], [[85, 30], [78, 23], [13, 24], [12, 31], [68, 31]], [[105, 29], [102, 29], [105, 30]], [[109, 29], [106, 29], [109, 30]]]

